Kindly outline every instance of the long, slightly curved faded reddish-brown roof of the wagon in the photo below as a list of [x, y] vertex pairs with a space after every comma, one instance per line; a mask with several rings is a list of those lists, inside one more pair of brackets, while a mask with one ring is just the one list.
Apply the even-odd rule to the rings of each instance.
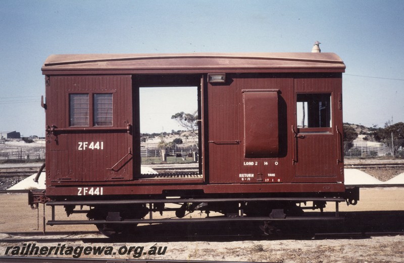
[[[43, 74], [203, 73], [203, 72], [344, 72], [334, 53], [188, 53], [188, 54], [61, 54], [49, 56]], [[66, 72], [66, 73], [67, 73]]]

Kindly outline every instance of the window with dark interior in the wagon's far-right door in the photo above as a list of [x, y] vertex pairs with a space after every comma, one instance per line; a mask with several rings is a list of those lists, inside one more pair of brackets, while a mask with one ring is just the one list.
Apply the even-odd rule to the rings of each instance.
[[297, 94], [297, 127], [331, 127], [331, 94]]

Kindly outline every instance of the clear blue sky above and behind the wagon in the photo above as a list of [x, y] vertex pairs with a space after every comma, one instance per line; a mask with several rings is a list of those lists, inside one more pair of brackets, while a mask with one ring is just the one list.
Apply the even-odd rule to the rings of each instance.
[[404, 121], [404, 1], [2, 0], [0, 33], [0, 130], [24, 136], [44, 136], [50, 54], [310, 52], [317, 40], [346, 64], [344, 122]]

